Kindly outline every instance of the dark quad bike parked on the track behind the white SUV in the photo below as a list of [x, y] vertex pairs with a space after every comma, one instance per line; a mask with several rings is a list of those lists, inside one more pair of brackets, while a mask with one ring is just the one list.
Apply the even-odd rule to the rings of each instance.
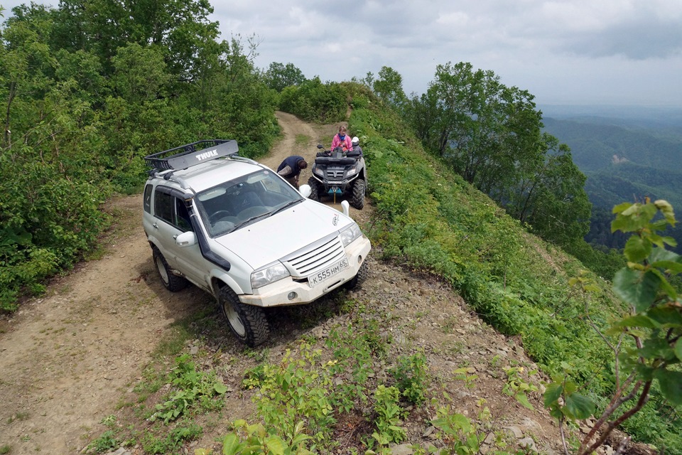
[[313, 176], [308, 179], [310, 199], [322, 200], [325, 196], [345, 198], [353, 208], [364, 207], [364, 191], [367, 188], [367, 168], [364, 158], [352, 151], [342, 151], [340, 147], [328, 151], [318, 145], [313, 164]]

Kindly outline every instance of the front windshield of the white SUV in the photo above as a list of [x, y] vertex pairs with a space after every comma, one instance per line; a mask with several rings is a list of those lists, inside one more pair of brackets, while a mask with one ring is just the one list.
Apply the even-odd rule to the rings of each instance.
[[301, 194], [267, 169], [208, 188], [195, 198], [211, 237], [232, 232], [302, 200]]

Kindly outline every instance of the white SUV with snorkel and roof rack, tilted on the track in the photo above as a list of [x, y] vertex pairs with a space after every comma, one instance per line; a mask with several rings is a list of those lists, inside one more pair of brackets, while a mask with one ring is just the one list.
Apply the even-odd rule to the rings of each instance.
[[[307, 304], [367, 276], [369, 240], [345, 213], [307, 199], [236, 141], [198, 141], [145, 157], [143, 225], [164, 286], [218, 301], [232, 332], [266, 341], [264, 307]], [[347, 206], [346, 206], [347, 207]]]

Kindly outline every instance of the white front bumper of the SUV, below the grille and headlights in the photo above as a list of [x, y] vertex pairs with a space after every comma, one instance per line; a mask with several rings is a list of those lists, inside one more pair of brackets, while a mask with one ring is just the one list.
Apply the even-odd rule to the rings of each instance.
[[309, 304], [355, 277], [362, 263], [367, 260], [370, 249], [369, 239], [363, 235], [346, 247], [346, 259], [348, 259], [349, 267], [317, 286], [310, 287], [307, 277], [296, 279], [287, 277], [259, 289], [254, 289], [254, 294], [242, 294], [239, 296], [239, 301], [254, 306]]

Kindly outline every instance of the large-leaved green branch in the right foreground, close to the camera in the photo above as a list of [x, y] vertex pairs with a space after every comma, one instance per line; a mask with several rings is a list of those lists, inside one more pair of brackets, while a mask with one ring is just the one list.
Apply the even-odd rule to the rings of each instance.
[[[624, 249], [627, 267], [619, 270], [613, 281], [615, 294], [629, 306], [629, 312], [602, 333], [590, 318], [586, 300], [585, 319], [615, 355], [616, 387], [609, 404], [581, 441], [578, 455], [591, 454], [613, 429], [639, 412], [649, 400], [654, 382], [666, 400], [682, 404], [682, 372], [673, 366], [682, 361], [682, 301], [668, 281], [671, 275], [682, 273], [682, 257], [666, 250], [666, 246], [676, 246], [675, 240], [659, 234], [668, 225], [675, 225], [673, 208], [665, 200], [651, 203], [647, 198], [644, 203], [617, 205], [613, 213], [612, 232], [632, 232]], [[580, 284], [585, 292], [594, 290], [585, 277], [573, 279], [571, 284]], [[609, 336], [617, 342], [612, 343]], [[567, 419], [587, 419], [595, 410], [594, 402], [576, 390], [573, 382], [555, 378], [544, 395], [546, 407], [561, 426], [566, 454], [563, 424]], [[622, 410], [633, 400], [629, 409]], [[627, 439], [618, 453], [626, 444]]]

